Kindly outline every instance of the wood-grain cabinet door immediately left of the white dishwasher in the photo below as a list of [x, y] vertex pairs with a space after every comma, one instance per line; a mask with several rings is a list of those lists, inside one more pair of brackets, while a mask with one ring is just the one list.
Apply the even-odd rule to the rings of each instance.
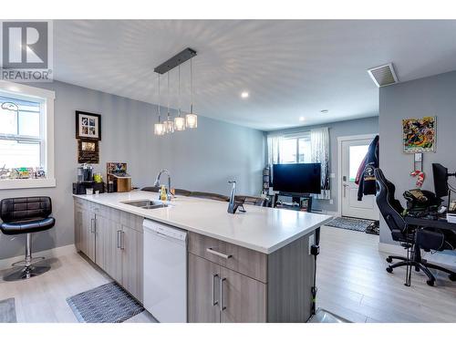
[[[142, 250], [143, 233], [122, 225], [120, 239], [122, 249], [122, 283], [121, 285], [142, 303], [143, 270]], [[160, 275], [159, 275], [160, 276]]]

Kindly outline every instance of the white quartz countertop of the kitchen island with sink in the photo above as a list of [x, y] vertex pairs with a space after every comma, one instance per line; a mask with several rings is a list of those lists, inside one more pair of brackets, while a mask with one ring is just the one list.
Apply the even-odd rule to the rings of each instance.
[[332, 216], [245, 205], [247, 212], [226, 212], [227, 202], [176, 196], [170, 206], [142, 209], [126, 203], [158, 200], [157, 192], [114, 192], [75, 197], [130, 212], [146, 219], [201, 233], [227, 243], [271, 254], [329, 222]]

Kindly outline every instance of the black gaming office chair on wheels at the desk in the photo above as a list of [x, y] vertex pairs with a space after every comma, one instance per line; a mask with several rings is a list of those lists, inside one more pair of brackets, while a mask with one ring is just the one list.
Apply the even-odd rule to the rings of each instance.
[[[413, 266], [415, 271], [420, 270], [428, 276], [427, 284], [432, 286], [435, 283], [435, 277], [430, 273], [430, 268], [448, 273], [451, 281], [456, 280], [456, 274], [437, 264], [430, 264], [421, 258], [420, 248], [425, 251], [451, 249], [455, 246], [451, 240], [451, 232], [442, 233], [440, 230], [424, 228], [419, 229], [417, 226], [405, 223], [401, 212], [404, 208], [400, 202], [394, 198], [396, 187], [385, 178], [383, 171], [376, 169], [374, 171], [377, 181], [376, 202], [378, 210], [389, 226], [391, 236], [394, 241], [399, 242], [401, 246], [412, 250], [411, 259], [399, 255], [389, 255], [387, 262], [392, 263], [394, 259], [400, 260], [398, 263], [389, 264], [387, 272], [392, 273], [394, 268], [401, 266]], [[456, 241], [456, 239], [455, 239]]]

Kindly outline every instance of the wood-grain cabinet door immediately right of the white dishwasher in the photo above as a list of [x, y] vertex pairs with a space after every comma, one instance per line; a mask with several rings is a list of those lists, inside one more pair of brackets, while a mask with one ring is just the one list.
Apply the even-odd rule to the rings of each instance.
[[220, 266], [194, 254], [188, 254], [188, 321], [220, 322]]

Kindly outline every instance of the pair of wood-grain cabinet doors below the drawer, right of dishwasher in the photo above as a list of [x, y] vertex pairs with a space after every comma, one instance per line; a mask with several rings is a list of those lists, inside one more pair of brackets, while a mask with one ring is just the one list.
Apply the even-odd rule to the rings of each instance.
[[189, 322], [266, 322], [266, 285], [189, 254]]

